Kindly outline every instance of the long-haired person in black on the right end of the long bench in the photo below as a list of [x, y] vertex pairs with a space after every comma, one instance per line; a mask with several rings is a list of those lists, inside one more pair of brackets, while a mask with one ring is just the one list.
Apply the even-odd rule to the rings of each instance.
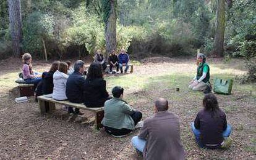
[[83, 87], [83, 102], [87, 107], [104, 106], [105, 101], [109, 99], [106, 81], [103, 79], [101, 65], [98, 63], [90, 65]]

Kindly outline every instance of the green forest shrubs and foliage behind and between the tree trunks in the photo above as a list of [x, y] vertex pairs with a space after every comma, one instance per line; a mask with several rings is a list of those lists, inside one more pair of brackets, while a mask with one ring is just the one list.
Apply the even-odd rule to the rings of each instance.
[[[22, 52], [84, 57], [105, 50], [105, 0], [21, 0]], [[117, 50], [136, 58], [211, 55], [217, 0], [117, 1]], [[224, 57], [256, 54], [256, 1], [225, 1]], [[12, 55], [8, 1], [0, 0], [0, 57]], [[106, 53], [105, 53], [106, 54]]]

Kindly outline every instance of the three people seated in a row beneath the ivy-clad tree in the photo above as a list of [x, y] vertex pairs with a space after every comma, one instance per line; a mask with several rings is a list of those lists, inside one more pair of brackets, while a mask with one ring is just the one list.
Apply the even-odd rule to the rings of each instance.
[[[105, 59], [104, 55], [101, 53], [101, 50], [98, 49], [94, 55], [94, 62], [101, 65], [103, 71], [106, 70], [107, 67], [107, 60]], [[116, 51], [113, 50], [109, 53], [109, 73], [117, 73], [120, 69], [121, 73], [127, 73], [129, 69], [129, 55], [126, 53], [125, 49], [121, 49], [119, 55], [116, 54]], [[123, 70], [123, 66], [126, 68]], [[113, 68], [116, 67], [116, 71], [113, 71]]]

